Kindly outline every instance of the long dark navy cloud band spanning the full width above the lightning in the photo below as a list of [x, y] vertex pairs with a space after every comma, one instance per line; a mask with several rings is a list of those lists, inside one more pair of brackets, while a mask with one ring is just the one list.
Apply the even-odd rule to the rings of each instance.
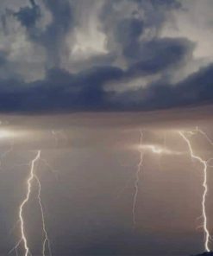
[[[173, 86], [155, 83], [127, 93], [105, 92], [103, 85], [125, 73], [101, 67], [81, 74], [50, 70], [47, 80], [31, 84], [4, 80], [0, 93], [2, 112], [139, 111], [213, 103], [213, 65]], [[19, 89], [15, 89], [15, 88]]]

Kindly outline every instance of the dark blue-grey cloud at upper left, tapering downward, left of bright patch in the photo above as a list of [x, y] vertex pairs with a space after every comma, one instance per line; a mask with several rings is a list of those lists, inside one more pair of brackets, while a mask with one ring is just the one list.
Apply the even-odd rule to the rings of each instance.
[[68, 0], [45, 1], [53, 20], [47, 28], [41, 29], [36, 26], [41, 19], [41, 7], [34, 0], [29, 2], [30, 7], [21, 7], [14, 15], [28, 29], [29, 39], [46, 48], [47, 67], [57, 67], [60, 65], [60, 54], [63, 54], [66, 33], [72, 27], [72, 7]]

